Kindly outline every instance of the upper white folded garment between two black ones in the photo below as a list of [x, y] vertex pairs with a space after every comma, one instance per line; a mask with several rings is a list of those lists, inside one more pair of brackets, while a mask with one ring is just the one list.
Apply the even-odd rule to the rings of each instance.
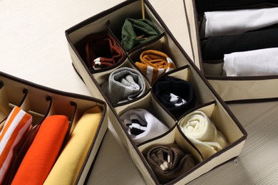
[[278, 23], [278, 8], [205, 12], [205, 37], [228, 36]]

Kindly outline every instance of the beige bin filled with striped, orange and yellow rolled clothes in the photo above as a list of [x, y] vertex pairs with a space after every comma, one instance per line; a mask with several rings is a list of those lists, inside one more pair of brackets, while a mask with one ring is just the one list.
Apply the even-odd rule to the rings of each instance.
[[[46, 88], [6, 73], [0, 73], [0, 98], [1, 147], [6, 146], [1, 149], [1, 181], [43, 184], [52, 176], [53, 181], [83, 184], [108, 129], [105, 102]], [[23, 117], [16, 126], [21, 131], [17, 132], [13, 125], [23, 112], [31, 119], [24, 123], [27, 129], [23, 132]], [[84, 127], [87, 133], [82, 132]], [[9, 144], [15, 135], [14, 144]], [[5, 158], [5, 154], [9, 157]], [[61, 175], [67, 174], [65, 167], [70, 177]]]

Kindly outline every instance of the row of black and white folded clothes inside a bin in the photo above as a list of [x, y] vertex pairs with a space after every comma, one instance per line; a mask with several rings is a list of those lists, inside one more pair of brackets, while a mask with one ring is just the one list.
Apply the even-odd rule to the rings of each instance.
[[[240, 9], [240, 4], [248, 6], [258, 3], [257, 1], [223, 3], [219, 6], [232, 9], [238, 7], [238, 9], [215, 11], [218, 8], [211, 9], [208, 4], [197, 2], [201, 9], [213, 10], [204, 13], [203, 25], [207, 40], [203, 42], [202, 58], [210, 63], [223, 60], [225, 65], [223, 75], [278, 75], [274, 64], [278, 62], [277, 55], [272, 49], [264, 50], [278, 47], [278, 8]], [[253, 60], [258, 55], [252, 55], [257, 52], [261, 55], [259, 56], [261, 61]], [[269, 53], [273, 55], [269, 56]], [[269, 70], [272, 67], [274, 69]]]

